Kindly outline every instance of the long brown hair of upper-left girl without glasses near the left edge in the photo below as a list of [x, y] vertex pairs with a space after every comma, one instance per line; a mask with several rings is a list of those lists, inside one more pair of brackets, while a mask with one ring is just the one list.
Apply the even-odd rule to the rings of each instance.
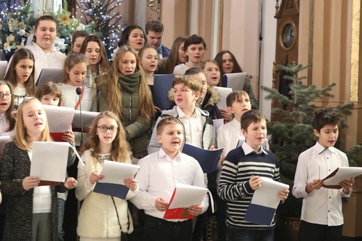
[[16, 65], [21, 61], [22, 59], [30, 59], [33, 61], [33, 70], [31, 71], [31, 74], [29, 75], [29, 78], [25, 81], [25, 88], [26, 88], [26, 96], [34, 96], [36, 94], [36, 85], [34, 84], [34, 72], [36, 72], [35, 68], [35, 62], [33, 53], [29, 49], [21, 48], [17, 49], [15, 54], [13, 55], [13, 59], [11, 59], [11, 62], [9, 64], [8, 72], [6, 73], [4, 79], [7, 81], [10, 81], [11, 84], [13, 84], [14, 87], [17, 86], [17, 75], [16, 75]]

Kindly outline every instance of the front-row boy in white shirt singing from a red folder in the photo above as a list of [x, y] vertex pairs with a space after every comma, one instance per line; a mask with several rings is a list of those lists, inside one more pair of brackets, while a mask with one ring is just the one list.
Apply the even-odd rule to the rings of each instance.
[[[161, 148], [139, 160], [136, 175], [139, 193], [131, 201], [145, 210], [144, 240], [191, 240], [192, 219], [164, 219], [164, 213], [176, 184], [205, 187], [200, 164], [189, 155], [180, 152], [184, 143], [184, 128], [180, 120], [167, 116], [157, 125], [157, 141]], [[199, 205], [191, 205], [188, 212], [198, 216], [208, 207], [205, 195]]]

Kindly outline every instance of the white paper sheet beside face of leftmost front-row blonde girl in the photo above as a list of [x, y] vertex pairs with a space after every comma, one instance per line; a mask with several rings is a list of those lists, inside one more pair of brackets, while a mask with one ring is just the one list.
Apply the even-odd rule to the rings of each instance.
[[74, 108], [43, 105], [47, 114], [50, 132], [67, 132], [72, 126]]

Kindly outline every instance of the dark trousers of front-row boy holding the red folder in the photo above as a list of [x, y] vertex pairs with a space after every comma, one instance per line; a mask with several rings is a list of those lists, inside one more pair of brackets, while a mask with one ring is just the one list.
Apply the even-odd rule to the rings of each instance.
[[190, 241], [192, 221], [166, 221], [145, 215], [144, 240], [147, 241]]

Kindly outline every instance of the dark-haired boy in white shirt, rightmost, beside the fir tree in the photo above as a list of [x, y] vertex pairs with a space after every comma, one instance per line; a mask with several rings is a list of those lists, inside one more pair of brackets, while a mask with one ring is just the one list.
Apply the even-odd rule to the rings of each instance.
[[340, 118], [333, 109], [321, 109], [313, 119], [315, 146], [298, 157], [292, 193], [303, 198], [299, 240], [341, 240], [342, 197], [350, 196], [354, 179], [340, 181], [340, 189], [322, 187], [324, 178], [339, 166], [348, 166], [347, 155], [334, 148]]

